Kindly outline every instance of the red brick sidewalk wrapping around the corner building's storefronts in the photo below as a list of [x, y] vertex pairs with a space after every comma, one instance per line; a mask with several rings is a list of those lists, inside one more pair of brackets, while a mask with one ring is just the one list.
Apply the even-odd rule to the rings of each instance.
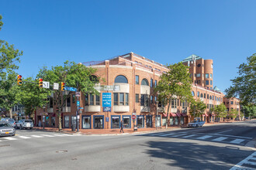
[[170, 131], [171, 129], [181, 129], [180, 127], [168, 127], [165, 128], [138, 128], [137, 131], [133, 131], [133, 129], [123, 129], [124, 133], [120, 132], [120, 129], [79, 129], [79, 132], [71, 131], [71, 128], [64, 128], [62, 131], [59, 131], [58, 128], [39, 128], [34, 127], [38, 131], [53, 131], [53, 132], [61, 132], [66, 134], [81, 134], [81, 135], [122, 135], [122, 134], [143, 134], [153, 131]]

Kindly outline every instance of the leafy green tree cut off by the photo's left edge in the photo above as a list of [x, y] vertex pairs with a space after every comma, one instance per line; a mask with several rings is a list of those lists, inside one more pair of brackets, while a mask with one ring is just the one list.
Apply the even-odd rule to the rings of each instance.
[[[0, 15], [0, 30], [2, 26], [2, 15]], [[19, 63], [19, 56], [22, 56], [22, 51], [0, 39], [0, 107], [8, 110], [11, 117], [12, 107], [17, 103], [17, 74], [14, 70], [19, 69], [19, 66], [16, 65]]]

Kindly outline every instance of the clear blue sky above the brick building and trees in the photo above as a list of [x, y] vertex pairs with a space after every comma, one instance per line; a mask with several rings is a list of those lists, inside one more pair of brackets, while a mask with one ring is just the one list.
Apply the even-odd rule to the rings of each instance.
[[23, 77], [131, 51], [163, 64], [196, 54], [213, 59], [213, 85], [225, 90], [256, 53], [255, 8], [253, 0], [1, 0], [0, 39], [23, 51]]

